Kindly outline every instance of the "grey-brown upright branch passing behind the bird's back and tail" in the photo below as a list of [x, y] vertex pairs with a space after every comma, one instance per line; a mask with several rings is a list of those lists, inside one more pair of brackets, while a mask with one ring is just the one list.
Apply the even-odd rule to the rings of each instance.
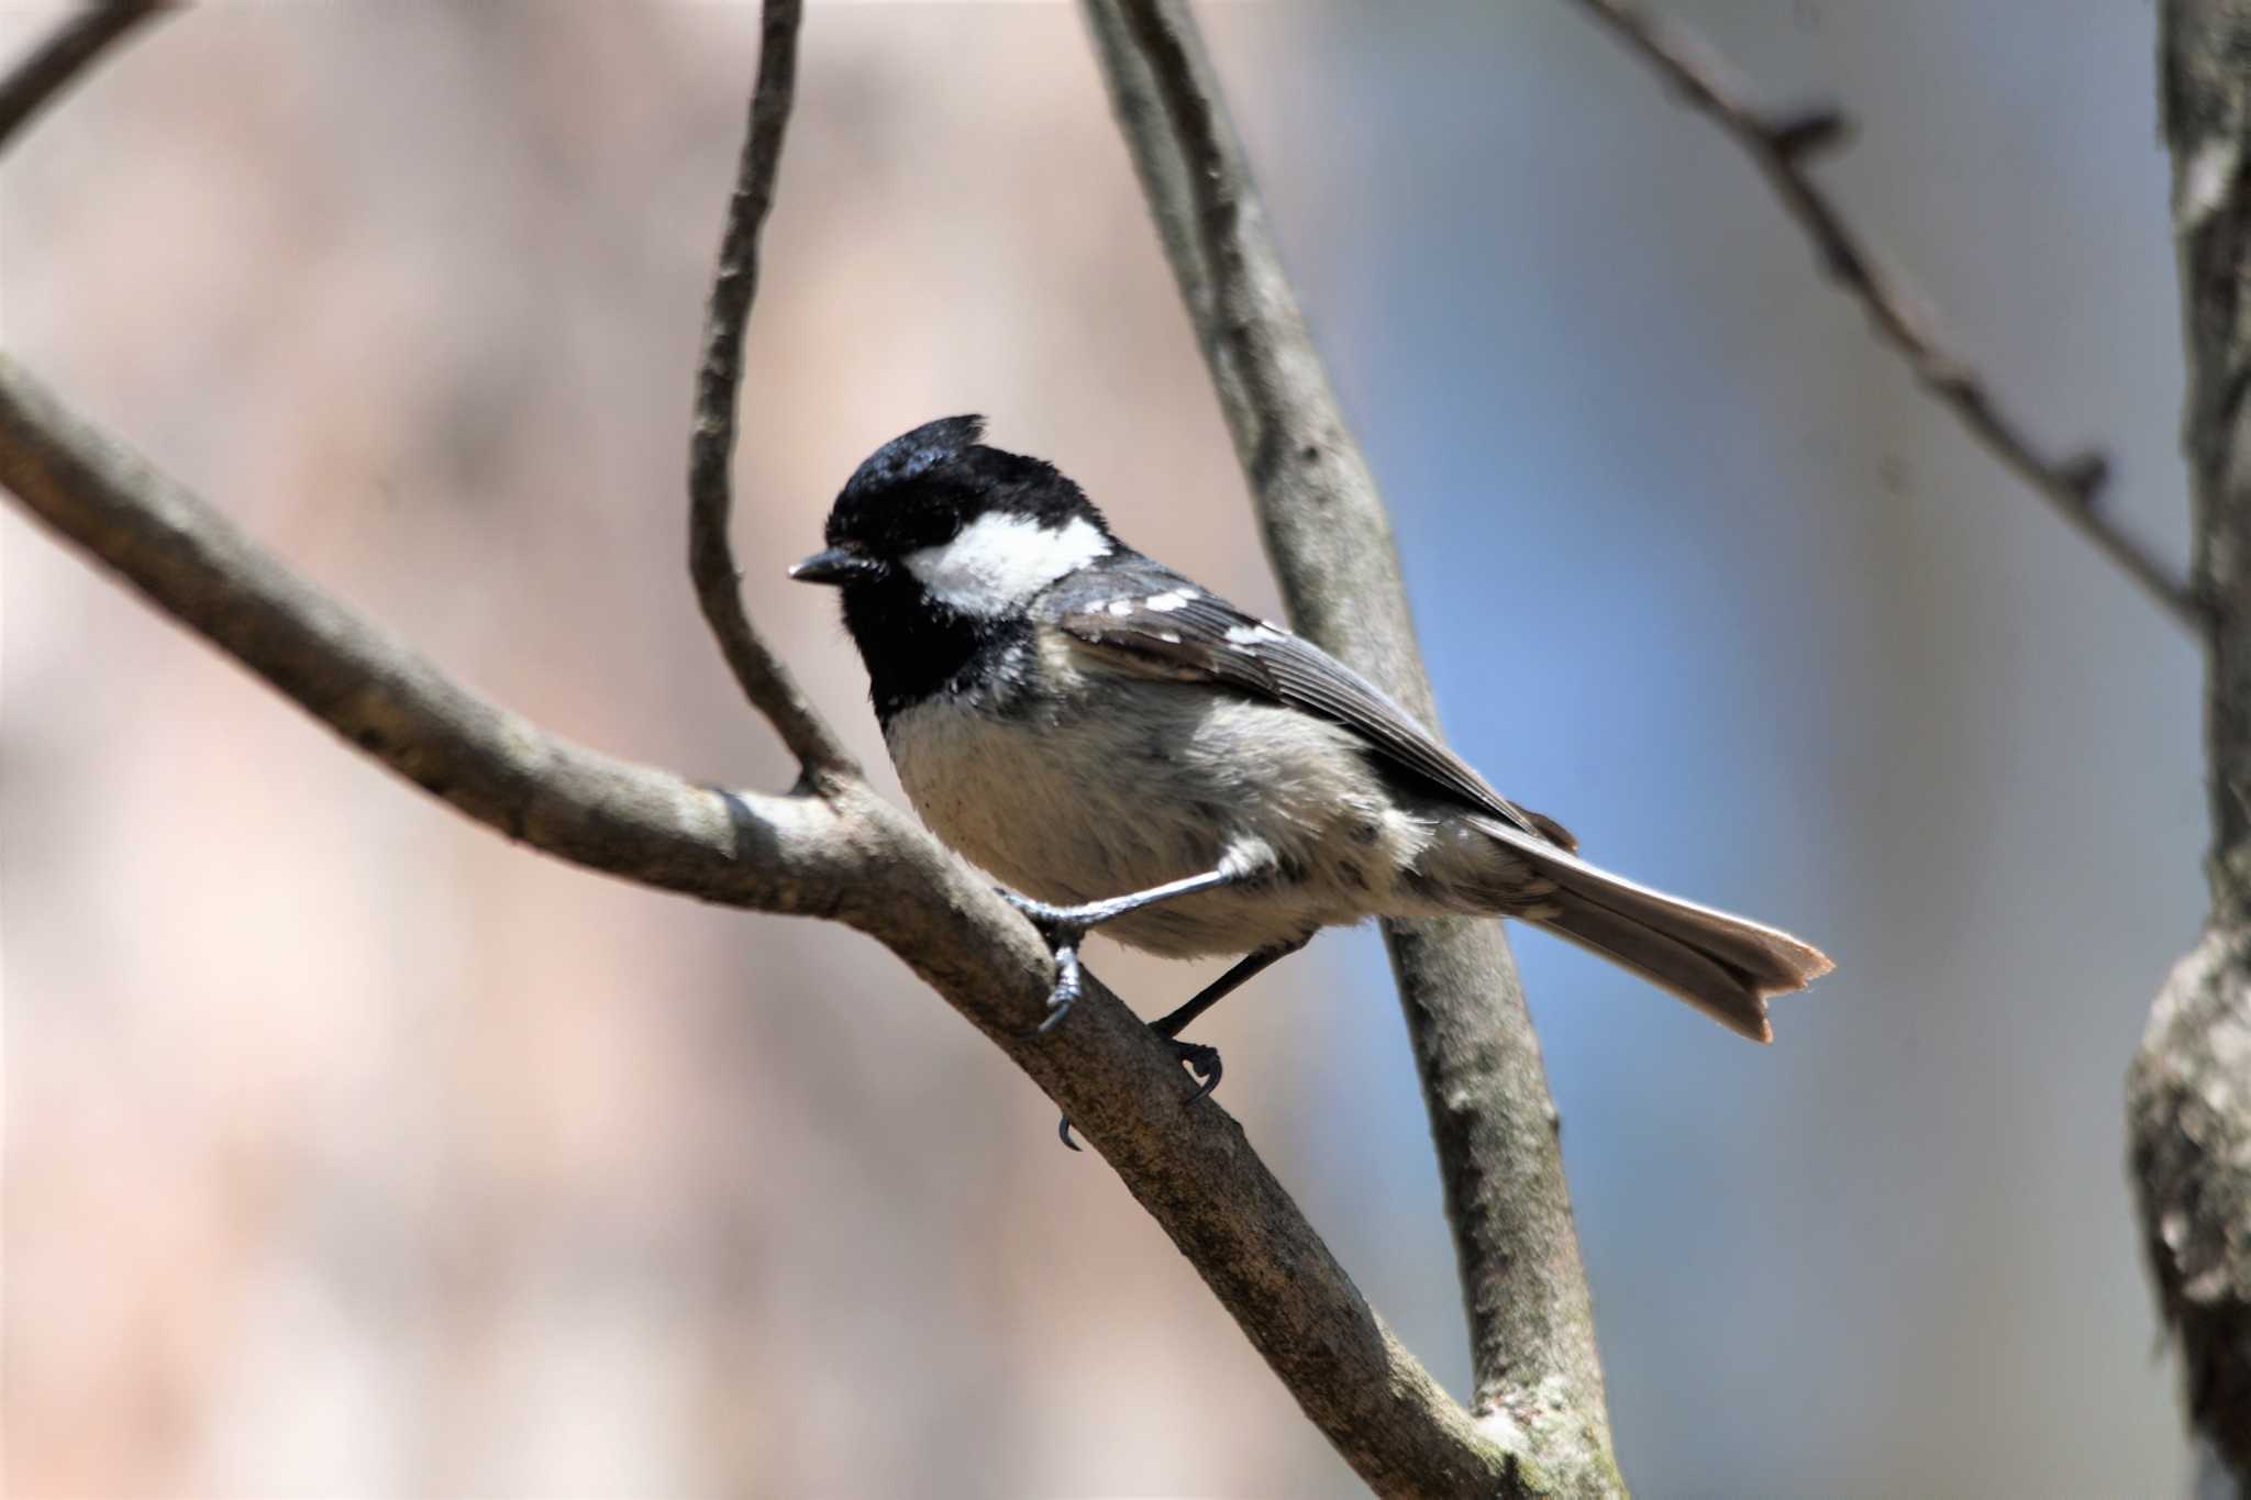
[[[1391, 526], [1337, 409], [1193, 18], [1087, 0], [1103, 74], [1292, 621], [1436, 724]], [[1540, 1043], [1499, 922], [1387, 922], [1470, 1316], [1477, 1412], [1578, 1493], [1623, 1489]]]

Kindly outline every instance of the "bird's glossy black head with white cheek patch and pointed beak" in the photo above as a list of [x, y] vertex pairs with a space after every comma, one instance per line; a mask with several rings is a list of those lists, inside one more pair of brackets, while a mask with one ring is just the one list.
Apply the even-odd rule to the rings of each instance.
[[790, 578], [844, 591], [844, 625], [889, 720], [975, 690], [1031, 634], [1031, 600], [1116, 551], [1101, 510], [1051, 463], [986, 448], [945, 416], [878, 448], [828, 510], [828, 546]]

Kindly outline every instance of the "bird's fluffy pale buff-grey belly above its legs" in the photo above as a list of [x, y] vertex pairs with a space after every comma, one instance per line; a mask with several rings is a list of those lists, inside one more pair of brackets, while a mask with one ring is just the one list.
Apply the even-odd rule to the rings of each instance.
[[1015, 891], [1056, 904], [1222, 864], [1243, 886], [1103, 927], [1155, 954], [1245, 954], [1393, 906], [1427, 825], [1400, 814], [1353, 740], [1288, 708], [1180, 684], [1103, 684], [993, 711], [930, 699], [885, 729], [914, 810]]

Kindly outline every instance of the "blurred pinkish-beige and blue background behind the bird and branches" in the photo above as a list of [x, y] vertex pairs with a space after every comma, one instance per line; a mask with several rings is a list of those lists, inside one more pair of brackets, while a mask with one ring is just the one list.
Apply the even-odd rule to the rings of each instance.
[[[1661, 9], [1756, 99], [1850, 108], [1823, 178], [2181, 555], [2152, 7]], [[2204, 909], [2190, 641], [1573, 7], [1202, 16], [1454, 742], [1839, 960], [1763, 1050], [1517, 936], [1627, 1475], [2179, 1493], [2120, 1079]], [[682, 562], [754, 58], [750, 4], [167, 20], [7, 160], [7, 346], [479, 690], [786, 785]], [[1276, 607], [1071, 7], [815, 4], [750, 351], [752, 609], [862, 756], [835, 600], [781, 567], [930, 416]], [[513, 848], [7, 506], [0, 553], [9, 1493], [1355, 1493], [882, 949]], [[1146, 1014], [1207, 978], [1094, 963]], [[1373, 931], [1200, 1034], [1461, 1392]]]

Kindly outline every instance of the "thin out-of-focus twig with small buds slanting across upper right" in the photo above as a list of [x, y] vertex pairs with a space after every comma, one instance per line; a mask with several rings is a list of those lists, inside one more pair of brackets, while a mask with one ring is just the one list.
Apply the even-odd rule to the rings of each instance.
[[1821, 268], [1868, 308], [1868, 322], [1884, 342], [1907, 355], [1916, 380], [1949, 407], [1988, 452], [2039, 493], [2105, 558], [2123, 567], [2165, 614], [2188, 630], [2204, 627], [2204, 605], [2179, 571], [2102, 510], [2109, 461], [2100, 452], [2044, 454], [2024, 423], [2001, 409], [1985, 378], [1945, 349], [1940, 335], [1916, 310], [1918, 299], [1877, 263], [1868, 243], [1814, 182], [1808, 171], [1812, 160], [1841, 146], [1850, 133], [1839, 110], [1828, 106], [1796, 112], [1756, 110], [1742, 101], [1720, 56], [1684, 27], [1648, 16], [1630, 0], [1573, 2], [1654, 67], [1688, 108], [1709, 115], [1742, 146], [1814, 243]]

